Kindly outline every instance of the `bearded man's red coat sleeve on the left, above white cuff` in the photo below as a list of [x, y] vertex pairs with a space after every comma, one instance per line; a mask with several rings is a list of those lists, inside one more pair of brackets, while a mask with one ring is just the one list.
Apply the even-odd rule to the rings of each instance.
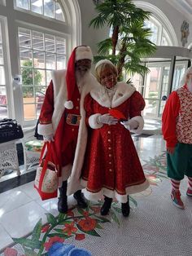
[[39, 116], [40, 124], [50, 124], [51, 118], [54, 112], [54, 88], [53, 82], [50, 81], [49, 86], [46, 89], [46, 96], [41, 107], [41, 113]]

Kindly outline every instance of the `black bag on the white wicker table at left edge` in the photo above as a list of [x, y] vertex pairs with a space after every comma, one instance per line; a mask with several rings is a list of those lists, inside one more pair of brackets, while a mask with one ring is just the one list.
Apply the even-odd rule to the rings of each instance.
[[15, 119], [3, 118], [0, 120], [0, 143], [23, 137], [23, 130]]

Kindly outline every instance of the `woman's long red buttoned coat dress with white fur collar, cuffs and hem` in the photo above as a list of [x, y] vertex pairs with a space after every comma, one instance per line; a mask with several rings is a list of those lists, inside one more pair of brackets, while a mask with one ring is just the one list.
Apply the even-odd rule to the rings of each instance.
[[122, 203], [127, 195], [148, 188], [141, 163], [129, 130], [118, 122], [108, 126], [97, 123], [98, 115], [118, 109], [127, 119], [138, 121], [136, 130], [142, 130], [144, 99], [133, 86], [117, 83], [115, 95], [110, 100], [104, 88], [92, 90], [85, 97], [86, 117], [89, 118], [89, 139], [81, 184], [86, 187], [85, 197], [97, 201], [101, 196], [116, 197]]

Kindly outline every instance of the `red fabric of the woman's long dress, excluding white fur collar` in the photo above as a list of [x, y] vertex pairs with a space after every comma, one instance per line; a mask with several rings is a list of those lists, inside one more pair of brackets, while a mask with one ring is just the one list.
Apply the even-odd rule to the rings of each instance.
[[[144, 107], [142, 95], [135, 91], [116, 109], [129, 119], [141, 116]], [[98, 104], [91, 95], [85, 97], [87, 118], [95, 113], [108, 113], [108, 109]], [[81, 180], [86, 183], [88, 192], [98, 193], [100, 196], [102, 191], [105, 191], [102, 194], [109, 197], [113, 197], [110, 191], [116, 191], [115, 194], [120, 197], [145, 189], [143, 184], [146, 183], [146, 178], [136, 148], [129, 130], [120, 122], [111, 126], [103, 125], [100, 129], [89, 128]], [[96, 197], [94, 198], [97, 199]], [[90, 196], [89, 199], [93, 198]]]

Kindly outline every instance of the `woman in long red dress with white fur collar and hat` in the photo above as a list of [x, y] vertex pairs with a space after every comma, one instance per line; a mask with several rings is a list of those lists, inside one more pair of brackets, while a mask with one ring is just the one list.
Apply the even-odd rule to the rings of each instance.
[[130, 135], [130, 130], [137, 133], [143, 128], [145, 102], [131, 84], [117, 82], [117, 69], [110, 60], [98, 61], [96, 77], [101, 86], [85, 97], [90, 130], [79, 182], [87, 199], [104, 196], [102, 215], [108, 214], [115, 197], [127, 217], [129, 194], [149, 186]]

